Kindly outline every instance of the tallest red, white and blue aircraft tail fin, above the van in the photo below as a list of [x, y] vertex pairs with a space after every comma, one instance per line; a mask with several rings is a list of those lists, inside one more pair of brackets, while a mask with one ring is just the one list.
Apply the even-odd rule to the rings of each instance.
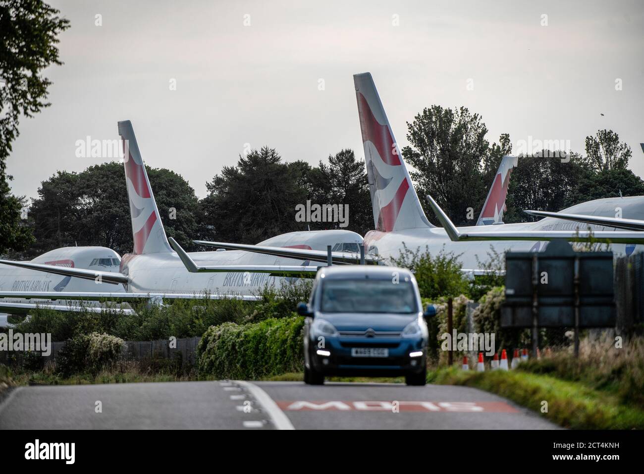
[[375, 229], [433, 227], [413, 188], [374, 79], [368, 72], [355, 74], [354, 84]]

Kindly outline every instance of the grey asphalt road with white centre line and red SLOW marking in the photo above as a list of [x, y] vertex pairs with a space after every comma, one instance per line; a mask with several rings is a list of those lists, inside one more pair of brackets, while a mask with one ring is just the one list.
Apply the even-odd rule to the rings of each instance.
[[558, 428], [475, 388], [302, 382], [28, 386], [0, 402], [0, 429]]

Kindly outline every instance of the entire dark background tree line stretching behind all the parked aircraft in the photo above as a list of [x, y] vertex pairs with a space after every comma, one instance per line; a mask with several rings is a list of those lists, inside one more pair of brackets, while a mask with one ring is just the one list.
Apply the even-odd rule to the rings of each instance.
[[[423, 204], [424, 195], [431, 193], [453, 221], [475, 223], [500, 159], [511, 153], [507, 134], [498, 144], [489, 144], [486, 132], [480, 117], [465, 108], [433, 106], [408, 124], [411, 146], [403, 155], [415, 168], [411, 175]], [[510, 181], [505, 221], [529, 220], [524, 209], [558, 211], [620, 193], [644, 194], [644, 181], [627, 169], [630, 148], [616, 133], [600, 130], [587, 137], [585, 151], [571, 153], [568, 160], [548, 151], [543, 154], [551, 157], [520, 157]], [[307, 200], [348, 204], [348, 230], [365, 235], [374, 228], [365, 163], [348, 149], [317, 166], [287, 162], [268, 146], [251, 150], [207, 182], [203, 199], [171, 170], [150, 167], [147, 173], [167, 234], [191, 250], [196, 250], [193, 239], [256, 244], [285, 232], [339, 228], [339, 222], [296, 221], [296, 206]], [[466, 217], [469, 207], [475, 209], [472, 219]], [[434, 220], [430, 209], [426, 214]], [[57, 172], [41, 184], [21, 228], [35, 239], [24, 257], [73, 245], [131, 252], [122, 164]]]

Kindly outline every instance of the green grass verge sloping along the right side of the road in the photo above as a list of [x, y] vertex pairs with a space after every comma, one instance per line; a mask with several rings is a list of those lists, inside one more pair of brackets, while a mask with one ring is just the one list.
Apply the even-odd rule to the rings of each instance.
[[542, 413], [565, 428], [585, 430], [644, 429], [644, 410], [621, 403], [620, 397], [580, 382], [520, 370], [463, 371], [444, 368], [428, 374], [428, 382], [480, 388]]

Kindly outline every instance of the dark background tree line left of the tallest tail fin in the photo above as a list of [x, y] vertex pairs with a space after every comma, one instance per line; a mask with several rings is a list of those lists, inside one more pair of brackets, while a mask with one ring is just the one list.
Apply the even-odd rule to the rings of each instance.
[[[318, 166], [286, 163], [269, 147], [251, 150], [214, 175], [203, 199], [177, 173], [146, 168], [167, 235], [190, 250], [193, 239], [256, 244], [279, 233], [338, 228], [339, 222], [297, 222], [296, 206], [307, 200], [348, 204], [350, 228], [364, 234], [372, 226], [365, 166], [351, 150]], [[35, 241], [23, 257], [74, 245], [132, 250], [125, 173], [117, 161], [57, 172], [43, 181], [26, 217], [22, 227]]]

